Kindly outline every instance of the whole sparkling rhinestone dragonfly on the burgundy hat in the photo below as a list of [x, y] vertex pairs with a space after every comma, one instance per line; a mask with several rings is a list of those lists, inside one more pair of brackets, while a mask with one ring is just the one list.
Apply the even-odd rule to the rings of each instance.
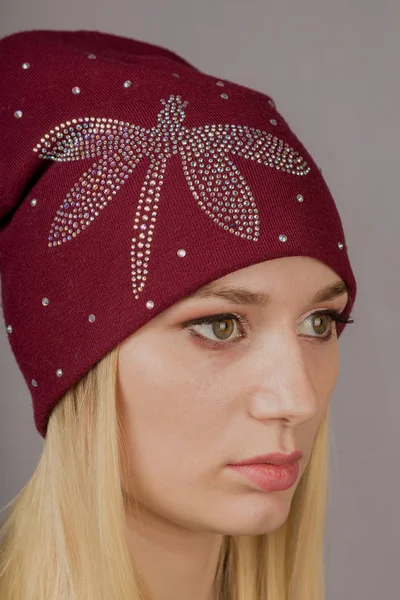
[[145, 287], [164, 173], [172, 155], [180, 156], [189, 190], [200, 209], [223, 230], [254, 242], [260, 232], [257, 205], [230, 155], [294, 175], [310, 171], [299, 153], [272, 133], [222, 124], [189, 129], [183, 125], [187, 101], [171, 95], [161, 104], [158, 123], [150, 129], [115, 119], [72, 119], [46, 133], [33, 149], [39, 158], [58, 162], [96, 159], [58, 208], [49, 247], [76, 238], [118, 194], [136, 165], [145, 157], [150, 159], [133, 225], [135, 299]]

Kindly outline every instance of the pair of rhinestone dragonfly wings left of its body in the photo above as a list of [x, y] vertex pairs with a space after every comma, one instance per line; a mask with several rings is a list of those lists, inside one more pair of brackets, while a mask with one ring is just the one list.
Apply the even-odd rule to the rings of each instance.
[[[34, 149], [57, 162], [98, 159], [69, 190], [50, 227], [48, 245], [75, 238], [108, 205], [149, 152], [148, 131], [112, 119], [85, 117], [62, 123]], [[151, 143], [148, 150], [151, 149]]]

